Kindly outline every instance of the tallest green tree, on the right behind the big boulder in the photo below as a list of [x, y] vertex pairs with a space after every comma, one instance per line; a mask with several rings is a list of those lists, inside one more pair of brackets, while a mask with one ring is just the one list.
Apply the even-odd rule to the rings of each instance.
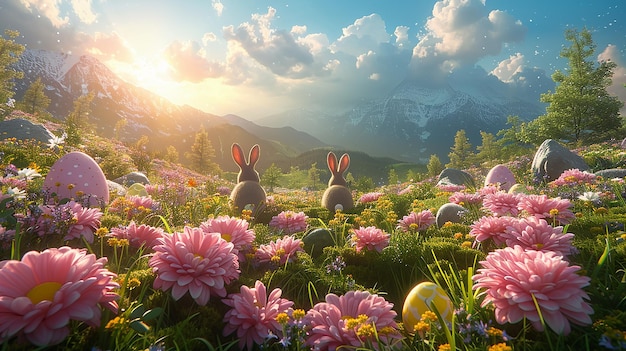
[[552, 75], [557, 83], [554, 93], [541, 95], [541, 101], [549, 105], [546, 114], [530, 123], [538, 137], [535, 143], [556, 139], [586, 145], [616, 137], [623, 103], [607, 91], [616, 64], [603, 61], [598, 65], [590, 59], [595, 57], [595, 44], [587, 29], [580, 33], [568, 29], [565, 39], [571, 46], [561, 50], [561, 57], [569, 60], [569, 68]]

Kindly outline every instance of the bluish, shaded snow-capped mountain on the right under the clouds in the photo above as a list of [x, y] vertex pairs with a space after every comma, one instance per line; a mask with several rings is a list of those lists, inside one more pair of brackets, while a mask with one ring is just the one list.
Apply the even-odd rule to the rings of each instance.
[[476, 68], [457, 72], [441, 84], [405, 80], [384, 98], [341, 115], [318, 115], [315, 124], [306, 122], [310, 118], [302, 122], [294, 118], [297, 114], [306, 116], [306, 111], [292, 111], [258, 123], [307, 128], [304, 130], [331, 145], [425, 163], [432, 154], [447, 160], [458, 130], [464, 129], [472, 145], [478, 146], [482, 142], [480, 132], [496, 134], [508, 128], [508, 116], [528, 121], [541, 115], [545, 105], [539, 94], [551, 87], [553, 83], [545, 75], [535, 75], [532, 83], [518, 79], [507, 84]]

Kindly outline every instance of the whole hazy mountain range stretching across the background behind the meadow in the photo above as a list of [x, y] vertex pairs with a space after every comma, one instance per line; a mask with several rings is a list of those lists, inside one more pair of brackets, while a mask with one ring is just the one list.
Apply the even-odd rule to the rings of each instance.
[[[25, 73], [24, 79], [16, 82], [17, 99], [40, 77], [52, 99], [48, 110], [62, 120], [76, 98], [95, 92], [90, 122], [99, 135], [113, 137], [116, 123], [125, 120], [126, 127], [119, 133], [122, 140], [133, 142], [146, 135], [153, 150], [175, 146], [181, 161], [195, 133], [204, 127], [216, 150], [216, 161], [226, 171], [237, 170], [230, 156], [234, 142], [244, 149], [261, 146], [260, 169], [271, 163], [285, 171], [293, 165], [308, 168], [310, 164], [299, 165], [296, 157], [316, 149], [361, 152], [377, 157], [383, 168], [399, 161], [425, 163], [431, 154], [447, 160], [457, 130], [465, 129], [473, 145], [479, 145], [480, 131], [496, 133], [506, 127], [507, 116], [530, 120], [545, 112], [538, 102], [539, 93], [551, 89], [547, 78], [547, 82], [533, 84], [525, 80], [536, 90], [533, 92], [479, 70], [459, 73], [438, 86], [407, 80], [384, 97], [347, 113], [298, 110], [251, 122], [175, 105], [124, 82], [90, 56], [26, 50], [16, 68]], [[323, 155], [317, 162], [318, 168], [325, 168]], [[369, 176], [376, 179], [379, 175]]]

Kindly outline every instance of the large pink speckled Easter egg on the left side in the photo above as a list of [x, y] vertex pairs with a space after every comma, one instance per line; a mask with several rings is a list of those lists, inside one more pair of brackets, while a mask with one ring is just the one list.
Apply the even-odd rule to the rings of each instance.
[[43, 189], [61, 199], [89, 198], [90, 206], [109, 203], [109, 185], [102, 169], [89, 155], [70, 152], [58, 159], [43, 182]]

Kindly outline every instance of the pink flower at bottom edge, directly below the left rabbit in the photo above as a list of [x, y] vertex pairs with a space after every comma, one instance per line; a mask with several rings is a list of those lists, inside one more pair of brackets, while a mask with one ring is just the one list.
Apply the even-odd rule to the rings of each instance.
[[268, 296], [265, 285], [258, 280], [254, 288], [243, 285], [239, 291], [222, 300], [232, 308], [224, 315], [224, 335], [236, 331], [242, 350], [262, 345], [270, 334], [282, 338], [282, 326], [276, 317], [279, 313], [287, 313], [293, 301], [281, 298], [282, 290], [279, 288], [272, 290]]

